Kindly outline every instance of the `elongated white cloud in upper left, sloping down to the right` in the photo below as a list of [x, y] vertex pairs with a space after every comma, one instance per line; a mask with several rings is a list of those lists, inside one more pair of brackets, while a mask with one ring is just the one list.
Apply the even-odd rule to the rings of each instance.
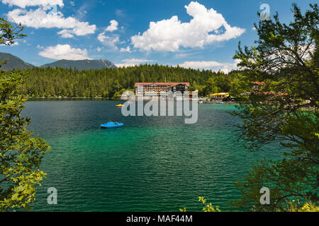
[[16, 23], [21, 23], [31, 28], [64, 29], [58, 32], [62, 37], [92, 34], [96, 30], [96, 25], [89, 25], [88, 22], [81, 22], [73, 17], [65, 18], [60, 11], [47, 13], [45, 8], [30, 9], [30, 11], [17, 8], [9, 11], [7, 16]]

